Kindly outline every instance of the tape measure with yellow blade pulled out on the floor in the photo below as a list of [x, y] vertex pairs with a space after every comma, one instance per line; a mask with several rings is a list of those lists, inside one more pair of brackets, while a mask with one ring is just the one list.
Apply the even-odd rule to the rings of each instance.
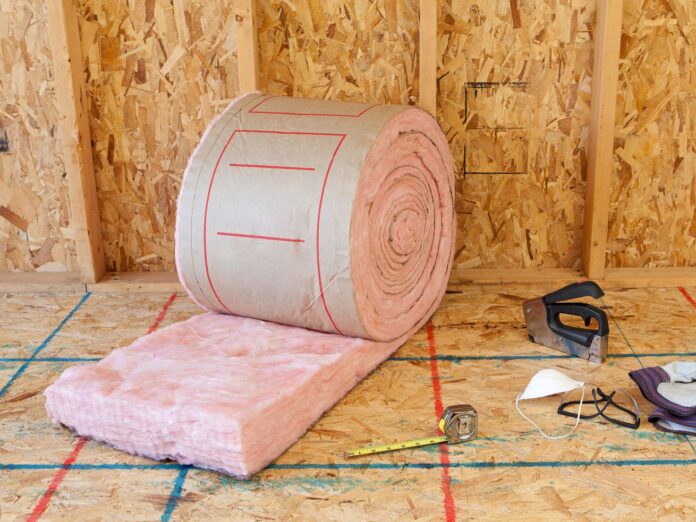
[[374, 455], [375, 453], [386, 453], [388, 451], [430, 446], [431, 444], [442, 444], [443, 442], [448, 444], [460, 444], [473, 440], [478, 433], [478, 414], [473, 406], [468, 404], [450, 406], [442, 412], [442, 417], [440, 417], [438, 426], [444, 435], [359, 448], [348, 451], [345, 455], [347, 458], [354, 458], [364, 455]]

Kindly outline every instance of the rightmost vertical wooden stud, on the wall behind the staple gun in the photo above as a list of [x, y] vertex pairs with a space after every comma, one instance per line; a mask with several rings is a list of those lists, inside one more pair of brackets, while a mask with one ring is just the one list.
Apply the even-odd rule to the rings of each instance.
[[605, 274], [622, 8], [623, 0], [599, 0], [594, 34], [592, 114], [587, 144], [582, 244], [582, 267], [587, 277], [592, 279], [601, 279]]

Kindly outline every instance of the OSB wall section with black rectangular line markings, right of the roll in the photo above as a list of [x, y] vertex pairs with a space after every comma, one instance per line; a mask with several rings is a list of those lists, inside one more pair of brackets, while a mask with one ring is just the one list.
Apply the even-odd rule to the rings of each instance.
[[461, 267], [579, 266], [595, 0], [440, 2]]

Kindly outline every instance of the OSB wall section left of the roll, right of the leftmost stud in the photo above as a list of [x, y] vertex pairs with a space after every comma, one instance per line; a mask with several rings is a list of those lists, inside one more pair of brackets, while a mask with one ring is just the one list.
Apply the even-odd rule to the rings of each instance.
[[230, 1], [79, 5], [108, 270], [174, 270], [176, 197], [206, 125], [238, 94]]

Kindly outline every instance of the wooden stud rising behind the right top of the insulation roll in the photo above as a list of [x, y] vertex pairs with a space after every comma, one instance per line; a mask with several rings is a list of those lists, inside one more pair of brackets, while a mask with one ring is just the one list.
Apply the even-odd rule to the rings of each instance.
[[437, 111], [436, 0], [420, 0], [418, 53], [418, 105], [435, 116], [435, 112]]

